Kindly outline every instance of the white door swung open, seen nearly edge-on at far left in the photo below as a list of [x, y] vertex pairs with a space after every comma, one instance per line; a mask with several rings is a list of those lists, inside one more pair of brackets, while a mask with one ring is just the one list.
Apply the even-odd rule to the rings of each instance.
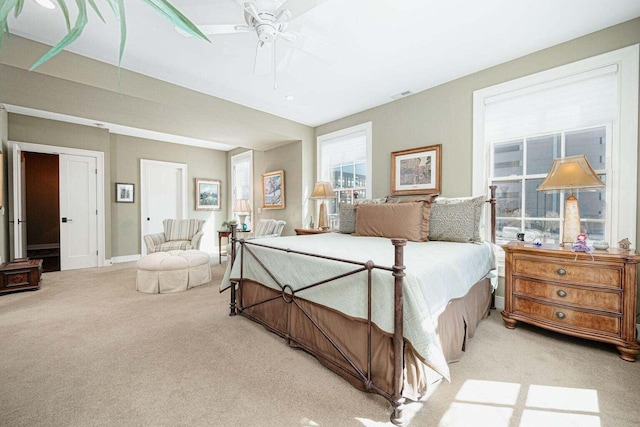
[[9, 246], [11, 259], [27, 256], [27, 218], [26, 197], [24, 194], [24, 158], [17, 145], [11, 145], [9, 151]]

